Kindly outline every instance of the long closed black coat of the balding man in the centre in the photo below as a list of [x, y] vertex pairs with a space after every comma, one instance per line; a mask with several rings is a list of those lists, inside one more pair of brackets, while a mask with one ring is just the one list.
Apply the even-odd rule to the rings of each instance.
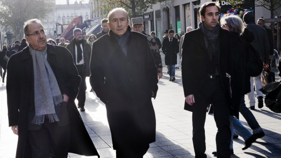
[[106, 104], [113, 148], [134, 150], [155, 142], [156, 118], [152, 92], [157, 92], [157, 69], [147, 37], [131, 32], [127, 56], [113, 32], [92, 46], [90, 83]]

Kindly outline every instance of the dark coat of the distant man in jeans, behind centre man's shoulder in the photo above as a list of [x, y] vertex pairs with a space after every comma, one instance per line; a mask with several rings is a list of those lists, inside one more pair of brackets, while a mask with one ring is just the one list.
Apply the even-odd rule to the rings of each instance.
[[179, 52], [178, 40], [172, 37], [172, 43], [170, 38], [165, 38], [162, 44], [162, 51], [165, 54], [165, 64], [175, 65], [177, 64], [177, 53]]

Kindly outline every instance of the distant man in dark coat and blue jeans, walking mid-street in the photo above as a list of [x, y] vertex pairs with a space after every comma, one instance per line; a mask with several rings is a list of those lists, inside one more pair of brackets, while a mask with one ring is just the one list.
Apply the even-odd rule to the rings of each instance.
[[168, 65], [170, 81], [174, 81], [175, 64], [177, 63], [177, 53], [179, 53], [178, 40], [173, 37], [174, 31], [169, 30], [168, 38], [163, 40], [162, 51], [165, 54], [165, 64]]

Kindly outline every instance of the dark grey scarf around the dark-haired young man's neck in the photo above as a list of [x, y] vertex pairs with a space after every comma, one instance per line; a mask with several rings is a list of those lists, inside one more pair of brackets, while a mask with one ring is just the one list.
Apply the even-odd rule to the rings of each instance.
[[200, 22], [200, 29], [202, 30], [204, 34], [204, 39], [206, 41], [206, 47], [209, 54], [209, 62], [210, 62], [210, 74], [216, 74], [216, 69], [218, 68], [218, 59], [219, 59], [219, 49], [218, 49], [218, 36], [220, 31], [219, 23], [214, 28], [214, 30], [208, 30], [204, 22]]

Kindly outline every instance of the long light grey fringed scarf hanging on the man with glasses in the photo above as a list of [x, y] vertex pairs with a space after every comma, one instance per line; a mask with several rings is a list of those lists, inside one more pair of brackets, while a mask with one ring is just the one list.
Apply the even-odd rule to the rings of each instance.
[[62, 93], [57, 79], [47, 59], [47, 47], [43, 51], [34, 50], [30, 46], [30, 53], [33, 62], [34, 76], [34, 107], [35, 117], [33, 124], [43, 124], [45, 117], [49, 122], [57, 122], [59, 118], [55, 106], [62, 103]]

